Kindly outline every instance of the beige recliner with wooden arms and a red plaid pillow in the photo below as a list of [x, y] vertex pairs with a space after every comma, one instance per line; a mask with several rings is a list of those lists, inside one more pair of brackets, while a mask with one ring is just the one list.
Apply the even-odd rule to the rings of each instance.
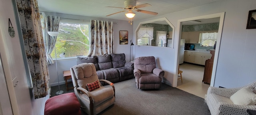
[[[74, 93], [81, 104], [82, 110], [88, 115], [96, 115], [114, 104], [114, 84], [104, 79], [98, 79], [93, 63], [75, 65], [70, 68], [70, 71], [74, 85]], [[112, 88], [103, 87], [100, 81], [110, 84]], [[90, 85], [92, 87], [90, 87]]]

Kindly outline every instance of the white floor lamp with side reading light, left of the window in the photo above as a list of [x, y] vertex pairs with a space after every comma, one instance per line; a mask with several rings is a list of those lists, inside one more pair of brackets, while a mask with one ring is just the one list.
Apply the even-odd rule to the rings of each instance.
[[[58, 36], [59, 32], [48, 32], [48, 34], [50, 36], [52, 36], [53, 41], [56, 38], [56, 36]], [[56, 48], [55, 48], [55, 44], [54, 44], [54, 51], [55, 51], [55, 63], [56, 63], [56, 71], [57, 71], [57, 77], [58, 77], [58, 86], [59, 86], [59, 91], [57, 91], [55, 94], [56, 95], [60, 95], [63, 94], [64, 91], [60, 90], [60, 81], [59, 81], [59, 75], [58, 75], [58, 66], [57, 66], [57, 54], [56, 54]], [[63, 56], [64, 55], [64, 56]], [[60, 54], [60, 57], [65, 57], [65, 53]]]

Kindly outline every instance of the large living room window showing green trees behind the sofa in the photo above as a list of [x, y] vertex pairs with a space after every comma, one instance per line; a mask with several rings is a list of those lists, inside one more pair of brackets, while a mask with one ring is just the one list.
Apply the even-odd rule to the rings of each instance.
[[[56, 56], [64, 52], [65, 57], [87, 56], [90, 48], [90, 22], [60, 20], [56, 41]], [[55, 52], [52, 51], [52, 58]]]

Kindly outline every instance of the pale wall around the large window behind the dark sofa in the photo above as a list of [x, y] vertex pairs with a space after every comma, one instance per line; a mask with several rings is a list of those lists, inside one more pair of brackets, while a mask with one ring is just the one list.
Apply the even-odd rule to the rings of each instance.
[[[70, 18], [70, 19], [78, 19], [78, 20], [102, 20], [102, 21], [110, 21], [113, 22], [113, 31], [114, 31], [114, 54], [124, 53], [126, 56], [126, 61], [130, 61], [130, 40], [133, 38], [133, 26], [130, 25], [127, 21], [124, 20], [114, 20], [107, 18], [95, 18], [88, 16], [78, 16], [71, 14], [61, 14], [54, 12], [45, 12], [46, 15], [52, 16], [60, 16], [60, 18]], [[118, 24], [117, 24], [118, 23]], [[125, 30], [128, 31], [128, 41], [127, 45], [119, 44], [119, 31]], [[63, 71], [70, 70], [70, 67], [76, 65], [76, 58], [73, 59], [57, 59], [58, 65], [58, 76], [60, 80], [60, 84], [65, 84], [63, 78]], [[50, 75], [50, 85], [55, 86], [58, 85], [57, 73], [56, 73], [56, 65], [55, 63], [52, 65], [48, 65], [49, 67], [49, 75]]]

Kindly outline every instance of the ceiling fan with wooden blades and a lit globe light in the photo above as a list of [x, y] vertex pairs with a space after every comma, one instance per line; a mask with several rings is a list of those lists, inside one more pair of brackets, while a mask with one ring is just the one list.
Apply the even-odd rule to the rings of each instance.
[[142, 13], [146, 13], [146, 14], [151, 14], [151, 15], [157, 15], [158, 14], [156, 12], [151, 12], [151, 11], [147, 11], [147, 10], [139, 10], [138, 8], [144, 8], [144, 7], [148, 7], [148, 6], [152, 6], [152, 5], [146, 3], [146, 4], [140, 4], [140, 5], [136, 6], [136, 0], [126, 0], [126, 1], [124, 1], [124, 6], [125, 6], [125, 8], [107, 6], [107, 7], [110, 7], [110, 8], [121, 8], [121, 9], [124, 9], [123, 11], [116, 12], [116, 13], [113, 13], [113, 14], [109, 14], [107, 16], [111, 16], [111, 15], [114, 15], [114, 14], [117, 14], [117, 13], [128, 11], [128, 12], [125, 13], [126, 17], [127, 18], [133, 18], [135, 16], [135, 13], [132, 12], [132, 10], [136, 11], [136, 12], [142, 12]]

